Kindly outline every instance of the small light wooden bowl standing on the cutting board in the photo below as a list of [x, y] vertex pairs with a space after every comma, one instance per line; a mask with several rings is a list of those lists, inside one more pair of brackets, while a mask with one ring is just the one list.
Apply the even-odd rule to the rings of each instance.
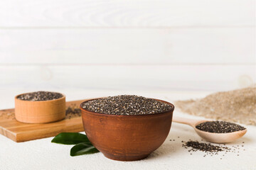
[[65, 95], [50, 101], [23, 101], [15, 96], [15, 118], [22, 123], [51, 123], [65, 118]]

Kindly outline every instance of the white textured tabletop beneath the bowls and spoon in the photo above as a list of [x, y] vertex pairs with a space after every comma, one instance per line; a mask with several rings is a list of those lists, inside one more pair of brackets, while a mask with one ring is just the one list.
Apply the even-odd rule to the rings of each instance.
[[[35, 90], [38, 89], [0, 89], [0, 109], [13, 108], [16, 94]], [[137, 94], [172, 102], [179, 99], [201, 98], [210, 94], [209, 91], [44, 90], [62, 91], [66, 94], [67, 101], [117, 94]], [[177, 110], [174, 111], [174, 116], [176, 115], [200, 118]], [[227, 145], [227, 147], [244, 145], [245, 151], [240, 149], [239, 157], [238, 153], [233, 152], [225, 154], [225, 157], [222, 157], [222, 154], [203, 157], [204, 152], [193, 152], [191, 155], [187, 149], [181, 147], [181, 140], [201, 140], [193, 128], [173, 123], [164, 144], [148, 158], [137, 162], [113, 161], [101, 153], [70, 157], [72, 146], [51, 143], [53, 137], [16, 143], [0, 135], [0, 169], [256, 169], [256, 126], [246, 125], [246, 128], [248, 131], [244, 137]], [[170, 141], [174, 139], [175, 141]]]

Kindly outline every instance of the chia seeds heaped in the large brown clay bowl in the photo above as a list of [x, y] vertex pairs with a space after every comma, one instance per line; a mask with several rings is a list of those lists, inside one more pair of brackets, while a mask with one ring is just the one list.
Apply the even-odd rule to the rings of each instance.
[[87, 101], [82, 108], [110, 115], [148, 115], [170, 111], [172, 106], [142, 96], [119, 95]]

